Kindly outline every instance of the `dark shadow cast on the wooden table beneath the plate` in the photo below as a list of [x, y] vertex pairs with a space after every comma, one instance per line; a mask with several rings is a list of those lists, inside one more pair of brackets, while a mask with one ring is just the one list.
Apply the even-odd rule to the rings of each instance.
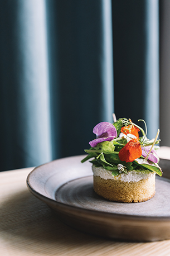
[[[104, 246], [110, 243], [109, 240], [96, 238], [66, 226], [45, 203], [33, 197], [26, 189], [6, 200], [1, 205], [0, 212], [0, 232], [3, 233], [3, 239], [23, 250], [33, 248], [34, 252], [51, 255], [47, 248], [54, 247], [51, 252], [54, 255], [62, 245], [67, 252], [74, 245], [76, 248], [85, 248], [90, 244]], [[116, 244], [113, 241], [111, 243]]]

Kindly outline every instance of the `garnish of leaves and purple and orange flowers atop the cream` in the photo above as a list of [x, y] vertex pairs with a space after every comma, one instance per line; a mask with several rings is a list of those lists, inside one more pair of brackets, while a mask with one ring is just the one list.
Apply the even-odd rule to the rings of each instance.
[[[144, 120], [138, 120], [143, 121]], [[155, 139], [147, 138], [147, 125], [145, 131], [134, 124], [131, 119], [119, 118], [113, 124], [100, 122], [93, 129], [96, 139], [89, 142], [91, 148], [86, 149], [88, 155], [81, 160], [84, 163], [90, 160], [95, 167], [110, 170], [112, 176], [128, 173], [130, 170], [146, 170], [162, 176], [159, 167], [159, 158], [156, 150], [159, 148], [159, 129]], [[139, 136], [139, 132], [142, 136]]]

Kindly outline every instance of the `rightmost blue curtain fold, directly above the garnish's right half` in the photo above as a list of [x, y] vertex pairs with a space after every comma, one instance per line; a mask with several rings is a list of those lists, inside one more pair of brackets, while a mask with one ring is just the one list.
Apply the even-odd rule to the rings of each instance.
[[[159, 2], [113, 0], [115, 113], [159, 127]], [[142, 123], [141, 123], [142, 125]]]

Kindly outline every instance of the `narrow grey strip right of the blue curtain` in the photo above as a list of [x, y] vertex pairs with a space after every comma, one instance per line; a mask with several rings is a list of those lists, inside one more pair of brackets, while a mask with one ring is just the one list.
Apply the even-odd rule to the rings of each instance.
[[170, 146], [170, 2], [160, 1], [160, 129], [161, 145]]

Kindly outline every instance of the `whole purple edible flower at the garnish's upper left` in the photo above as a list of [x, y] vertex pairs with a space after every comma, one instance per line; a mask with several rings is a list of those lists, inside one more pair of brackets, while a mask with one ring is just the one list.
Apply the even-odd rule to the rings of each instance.
[[100, 122], [94, 127], [93, 133], [96, 134], [96, 139], [89, 142], [92, 148], [100, 142], [111, 141], [117, 136], [117, 131], [110, 122]]

